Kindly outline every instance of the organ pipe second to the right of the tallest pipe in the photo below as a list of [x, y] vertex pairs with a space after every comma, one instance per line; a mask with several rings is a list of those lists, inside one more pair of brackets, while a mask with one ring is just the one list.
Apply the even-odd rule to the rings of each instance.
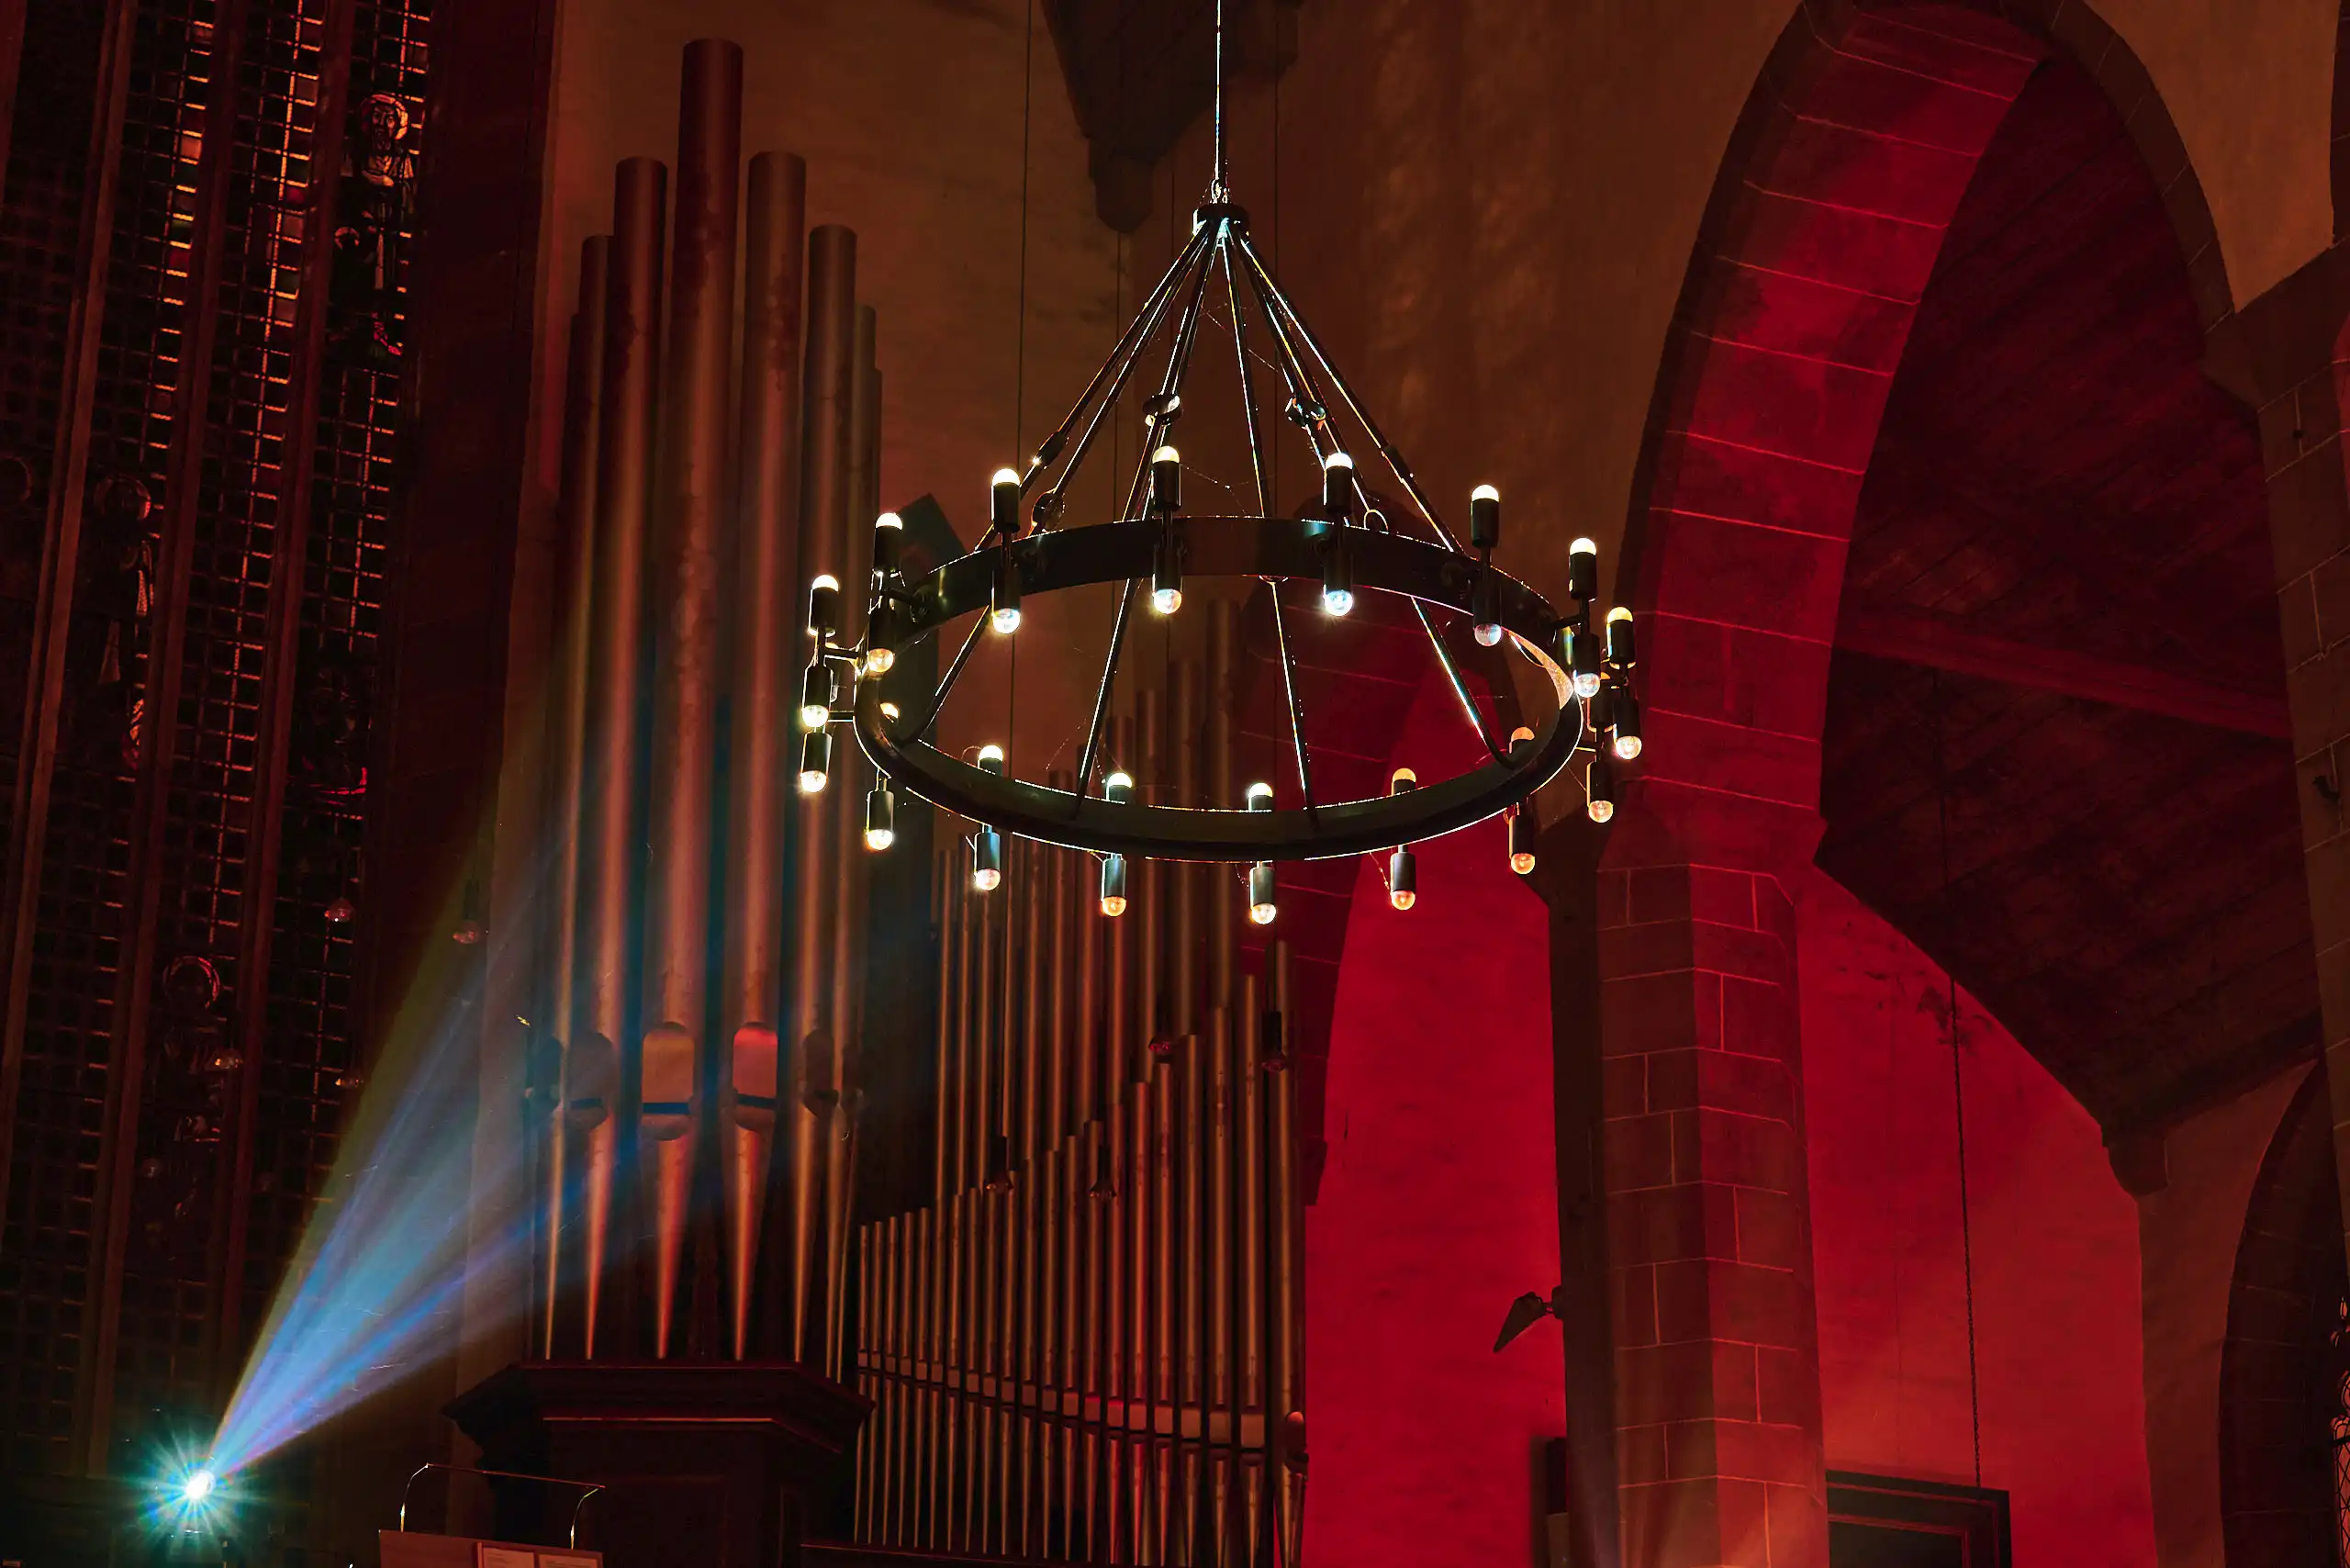
[[[808, 585], [830, 574], [834, 581], [858, 581], [848, 559], [848, 454], [851, 400], [855, 397], [855, 284], [858, 237], [825, 223], [808, 235], [808, 353], [806, 393], [801, 400], [799, 468], [799, 574], [792, 592], [792, 623], [804, 625]], [[841, 595], [844, 602], [858, 595]], [[813, 649], [811, 649], [813, 651]], [[846, 773], [848, 769], [841, 769]], [[834, 926], [841, 919], [839, 884], [841, 832], [834, 816], [853, 790], [844, 778], [832, 788], [801, 797], [794, 813], [792, 853], [792, 1100], [785, 1107], [792, 1152], [792, 1300], [785, 1312], [787, 1354], [818, 1354], [811, 1286], [815, 1284], [818, 1246], [822, 1244], [820, 1185], [825, 1173], [825, 1121], [830, 1095], [839, 1093], [841, 1027], [832, 1011]]]

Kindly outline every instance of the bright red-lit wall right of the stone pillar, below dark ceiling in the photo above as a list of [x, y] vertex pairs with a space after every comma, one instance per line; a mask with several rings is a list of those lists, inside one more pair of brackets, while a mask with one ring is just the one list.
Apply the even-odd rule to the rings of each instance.
[[[1824, 872], [1798, 929], [1828, 1467], [1972, 1483], [1948, 983]], [[2089, 1114], [1958, 1001], [1983, 1486], [2019, 1568], [2153, 1563], [2138, 1208]]]

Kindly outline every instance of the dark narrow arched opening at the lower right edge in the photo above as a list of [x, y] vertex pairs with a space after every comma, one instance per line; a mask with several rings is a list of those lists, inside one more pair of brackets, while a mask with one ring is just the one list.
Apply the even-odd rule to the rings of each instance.
[[2345, 1291], [2324, 1072], [2294, 1093], [2261, 1159], [2228, 1284], [2218, 1373], [2228, 1563], [2334, 1561], [2334, 1345]]

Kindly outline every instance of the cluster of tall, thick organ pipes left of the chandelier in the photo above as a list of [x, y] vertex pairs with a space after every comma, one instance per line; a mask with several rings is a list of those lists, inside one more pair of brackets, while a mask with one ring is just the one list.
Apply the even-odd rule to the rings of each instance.
[[[533, 1349], [757, 1352], [846, 1378], [851, 1342], [938, 1331], [914, 1260], [947, 1234], [907, 1222], [891, 1244], [851, 1222], [862, 820], [851, 788], [790, 788], [799, 607], [818, 574], [855, 581], [851, 538], [879, 512], [879, 331], [855, 303], [855, 235], [806, 235], [801, 160], [754, 155], [745, 190], [740, 106], [740, 49], [689, 45], [674, 242], [667, 169], [632, 158], [611, 237], [583, 252], [543, 980], [562, 1070]], [[853, 621], [862, 595], [841, 604]], [[712, 1220], [700, 1253], [691, 1227]], [[686, 1333], [689, 1255], [714, 1265], [714, 1335]], [[851, 1321], [851, 1274], [881, 1269], [898, 1272]], [[860, 1519], [909, 1502], [877, 1488]]]

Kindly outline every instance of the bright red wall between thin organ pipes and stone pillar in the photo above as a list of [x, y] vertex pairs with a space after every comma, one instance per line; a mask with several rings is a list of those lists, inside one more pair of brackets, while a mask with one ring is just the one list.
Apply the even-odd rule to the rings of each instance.
[[[1396, 762], [1459, 715], [1422, 684]], [[1450, 729], [1448, 729], [1450, 726]], [[1537, 1455], [1565, 1432], [1546, 910], [1502, 825], [1422, 844], [1419, 905], [1356, 879], [1330, 1030], [1330, 1138], [1307, 1211], [1307, 1540], [1321, 1563], [1535, 1561]]]

